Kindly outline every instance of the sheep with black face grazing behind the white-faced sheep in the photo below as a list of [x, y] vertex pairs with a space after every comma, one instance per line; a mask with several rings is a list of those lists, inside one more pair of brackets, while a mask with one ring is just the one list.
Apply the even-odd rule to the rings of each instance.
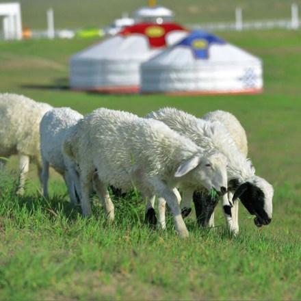
[[[228, 159], [228, 203], [230, 203], [230, 206], [224, 205], [223, 209], [228, 228], [231, 231], [235, 234], [239, 232], [237, 202], [232, 204], [232, 199], [236, 200], [239, 196], [242, 198], [241, 202], [249, 209], [250, 213], [257, 214], [257, 224], [269, 224], [272, 218], [273, 189], [265, 180], [254, 175], [255, 170], [251, 161], [237, 147], [237, 141], [239, 140], [241, 150], [247, 149], [244, 143], [244, 140], [246, 141], [244, 135], [237, 135], [235, 140], [228, 129], [218, 122], [218, 118], [216, 120], [200, 119], [174, 108], [159, 109], [157, 112], [148, 114], [146, 118], [161, 120], [174, 131], [178, 131], [181, 135], [194, 141], [198, 146], [205, 149], [219, 150], [226, 155]], [[233, 132], [239, 132], [239, 129], [233, 130]], [[265, 196], [267, 197], [263, 201], [264, 205], [261, 204], [262, 202], [256, 193], [261, 191], [262, 187], [265, 187]], [[236, 192], [234, 196], [233, 192]], [[185, 191], [183, 191], [181, 208], [182, 213], [187, 215], [191, 211], [191, 199], [184, 198], [184, 196]], [[215, 205], [218, 203], [218, 197], [212, 198], [207, 192], [200, 189], [194, 193], [194, 203], [198, 222], [204, 226], [207, 224], [213, 226], [213, 216], [211, 215]], [[251, 206], [250, 203], [255, 205]], [[231, 208], [232, 206], [233, 208]], [[148, 204], [149, 207], [151, 206]], [[161, 208], [162, 206], [160, 205], [159, 218], [163, 214], [160, 212]]]

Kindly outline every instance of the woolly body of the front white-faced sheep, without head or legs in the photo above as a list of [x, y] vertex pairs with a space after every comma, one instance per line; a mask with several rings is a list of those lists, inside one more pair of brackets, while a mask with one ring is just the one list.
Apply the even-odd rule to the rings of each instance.
[[81, 171], [93, 166], [107, 183], [128, 189], [135, 179], [173, 176], [202, 149], [163, 122], [102, 108], [78, 122], [64, 151], [79, 161]]

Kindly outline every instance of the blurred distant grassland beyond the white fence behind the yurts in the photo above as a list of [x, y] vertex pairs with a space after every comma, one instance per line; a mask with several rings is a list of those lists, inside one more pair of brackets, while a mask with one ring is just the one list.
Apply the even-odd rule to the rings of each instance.
[[[130, 16], [148, 0], [20, 0], [23, 26], [31, 29], [47, 27], [46, 11], [53, 8], [55, 27], [76, 29], [89, 26], [107, 26], [122, 12]], [[235, 8], [243, 10], [244, 20], [289, 19], [291, 3], [301, 5], [301, 0], [157, 0], [175, 13], [174, 21], [180, 23], [205, 23], [234, 21]]]

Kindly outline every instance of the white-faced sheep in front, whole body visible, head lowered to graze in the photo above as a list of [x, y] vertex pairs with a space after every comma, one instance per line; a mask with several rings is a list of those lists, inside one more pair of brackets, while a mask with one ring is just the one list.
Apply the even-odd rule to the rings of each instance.
[[133, 185], [145, 198], [157, 195], [168, 202], [176, 231], [188, 231], [181, 216], [181, 196], [176, 187], [186, 183], [196, 189], [226, 189], [226, 158], [218, 152], [204, 152], [191, 140], [172, 131], [163, 122], [139, 118], [129, 112], [96, 109], [81, 119], [64, 140], [64, 152], [80, 168], [81, 208], [90, 215], [88, 185], [114, 219], [114, 205], [107, 185], [128, 190]]

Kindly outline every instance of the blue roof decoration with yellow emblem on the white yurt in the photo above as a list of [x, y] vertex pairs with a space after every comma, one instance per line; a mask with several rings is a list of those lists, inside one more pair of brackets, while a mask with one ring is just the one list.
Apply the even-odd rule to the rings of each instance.
[[184, 45], [192, 49], [194, 57], [206, 60], [209, 56], [208, 50], [211, 44], [224, 44], [225, 41], [207, 31], [194, 30], [175, 46]]

